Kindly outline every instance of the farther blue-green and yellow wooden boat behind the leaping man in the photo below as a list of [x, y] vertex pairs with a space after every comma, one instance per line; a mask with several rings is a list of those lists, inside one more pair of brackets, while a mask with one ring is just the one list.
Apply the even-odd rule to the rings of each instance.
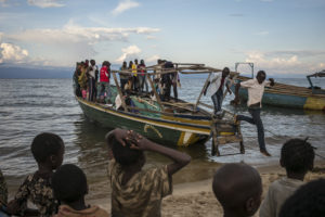
[[[311, 87], [304, 88], [299, 86], [275, 82], [273, 87], [265, 87], [262, 104], [303, 110], [325, 111], [325, 90], [313, 86], [311, 77], [325, 77], [325, 71], [307, 76]], [[244, 76], [237, 76], [237, 81], [250, 79]], [[234, 90], [234, 85], [232, 90]], [[247, 89], [239, 89], [239, 97], [247, 101]]]

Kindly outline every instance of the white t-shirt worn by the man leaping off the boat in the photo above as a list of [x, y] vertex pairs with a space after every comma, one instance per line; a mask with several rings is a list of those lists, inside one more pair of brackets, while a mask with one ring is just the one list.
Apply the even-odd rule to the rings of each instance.
[[[247, 106], [262, 102], [265, 86], [270, 87], [270, 81], [264, 80], [262, 84], [259, 84], [256, 78], [240, 82], [240, 87], [248, 89]], [[260, 106], [262, 106], [262, 103]]]

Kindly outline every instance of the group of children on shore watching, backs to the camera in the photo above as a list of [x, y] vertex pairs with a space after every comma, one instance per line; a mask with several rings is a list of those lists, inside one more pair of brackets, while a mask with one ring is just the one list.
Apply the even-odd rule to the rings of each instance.
[[[64, 141], [43, 132], [35, 137], [30, 150], [38, 170], [26, 177], [13, 200], [8, 203], [8, 189], [0, 171], [0, 216], [55, 217], [156, 217], [161, 200], [172, 193], [172, 175], [191, 162], [191, 156], [157, 144], [132, 130], [115, 129], [105, 140], [108, 145], [108, 179], [112, 210], [87, 205], [87, 178], [82, 169], [64, 164]], [[169, 157], [168, 165], [144, 169], [145, 151]], [[212, 191], [223, 207], [224, 216], [321, 217], [325, 212], [325, 179], [304, 183], [314, 165], [314, 148], [306, 140], [291, 139], [281, 150], [281, 166], [286, 177], [274, 181], [261, 204], [262, 183], [259, 173], [245, 163], [221, 166], [214, 174]], [[31, 202], [35, 208], [28, 207]]]

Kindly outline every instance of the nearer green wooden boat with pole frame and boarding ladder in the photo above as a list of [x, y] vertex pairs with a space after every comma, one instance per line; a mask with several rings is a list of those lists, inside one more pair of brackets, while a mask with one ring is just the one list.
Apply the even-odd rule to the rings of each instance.
[[[221, 72], [220, 69], [205, 67], [202, 64], [184, 65], [186, 67], [180, 67], [180, 64], [176, 64], [172, 72], [183, 74], [186, 74], [185, 69], [191, 71], [187, 72], [188, 74], [211, 73], [211, 71]], [[147, 71], [154, 72], [156, 67], [147, 67]], [[162, 69], [161, 74], [170, 72], [170, 69]], [[115, 102], [117, 94], [122, 95], [116, 76], [116, 74], [122, 73], [130, 74], [127, 71], [112, 71], [115, 80], [115, 86], [110, 86], [112, 102]], [[152, 80], [154, 75], [157, 75], [157, 73], [147, 73], [152, 90], [155, 90]], [[208, 111], [203, 108], [203, 106], [209, 107], [209, 105], [200, 103], [199, 99], [196, 103], [188, 103], [182, 100], [174, 101], [173, 99], [169, 102], [161, 102], [157, 92], [154, 91], [154, 93], [157, 101], [152, 101], [147, 94], [142, 94], [141, 97], [131, 94], [130, 98], [135, 106], [128, 106], [122, 100], [122, 111], [116, 110], [114, 104], [90, 102], [80, 97], [76, 97], [76, 100], [88, 118], [100, 123], [104, 127], [132, 129], [153, 141], [168, 145], [187, 146], [205, 143], [212, 137], [214, 144], [212, 154], [220, 155], [218, 145], [229, 142], [239, 142], [240, 152], [244, 153], [240, 128], [234, 123], [233, 114], [224, 111], [222, 119], [213, 118]]]

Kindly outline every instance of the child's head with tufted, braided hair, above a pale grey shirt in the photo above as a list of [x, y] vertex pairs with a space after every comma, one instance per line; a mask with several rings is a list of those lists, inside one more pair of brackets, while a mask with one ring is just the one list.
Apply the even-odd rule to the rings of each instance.
[[313, 168], [314, 157], [314, 149], [307, 139], [290, 139], [282, 146], [280, 164], [287, 174], [306, 174]]

